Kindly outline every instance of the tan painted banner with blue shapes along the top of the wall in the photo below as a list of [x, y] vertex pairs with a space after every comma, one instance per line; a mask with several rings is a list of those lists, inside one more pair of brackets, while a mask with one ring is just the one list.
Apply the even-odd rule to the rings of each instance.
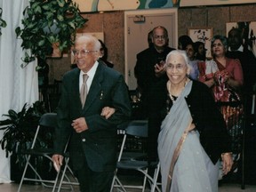
[[[180, 0], [73, 0], [81, 12], [179, 7]], [[182, 0], [181, 0], [182, 1]]]

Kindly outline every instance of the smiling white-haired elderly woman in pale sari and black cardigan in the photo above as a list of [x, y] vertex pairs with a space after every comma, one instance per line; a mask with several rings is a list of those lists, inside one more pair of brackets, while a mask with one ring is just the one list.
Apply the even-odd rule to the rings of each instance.
[[223, 117], [209, 88], [188, 78], [186, 52], [170, 52], [165, 68], [168, 81], [152, 88], [148, 119], [149, 142], [159, 133], [162, 189], [217, 192], [220, 156], [224, 174], [233, 164]]

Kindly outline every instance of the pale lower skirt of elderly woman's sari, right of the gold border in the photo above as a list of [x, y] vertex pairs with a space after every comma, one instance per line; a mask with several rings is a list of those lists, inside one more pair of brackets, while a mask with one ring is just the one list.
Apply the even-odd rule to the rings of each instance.
[[219, 167], [220, 163], [212, 164], [205, 153], [199, 133], [188, 132], [174, 167], [170, 192], [218, 192]]

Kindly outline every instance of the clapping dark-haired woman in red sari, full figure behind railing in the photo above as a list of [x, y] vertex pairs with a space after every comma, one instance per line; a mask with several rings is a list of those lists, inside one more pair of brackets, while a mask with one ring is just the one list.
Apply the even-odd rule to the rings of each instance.
[[234, 129], [241, 130], [241, 125], [237, 124], [237, 121], [244, 114], [244, 108], [242, 105], [234, 105], [234, 103], [243, 100], [241, 94], [244, 84], [243, 69], [239, 60], [229, 59], [226, 56], [228, 51], [226, 36], [213, 36], [211, 47], [213, 59], [198, 63], [199, 79], [212, 90], [212, 95], [220, 108], [228, 133], [232, 136], [233, 158], [238, 163], [240, 155], [236, 147], [236, 138], [242, 136], [240, 133], [234, 135], [233, 132]]

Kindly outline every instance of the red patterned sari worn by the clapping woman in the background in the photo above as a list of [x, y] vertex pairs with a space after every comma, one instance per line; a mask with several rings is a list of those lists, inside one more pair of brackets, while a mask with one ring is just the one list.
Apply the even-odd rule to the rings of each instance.
[[[209, 65], [211, 63], [211, 65]], [[233, 160], [238, 161], [242, 150], [242, 116], [244, 114], [243, 104], [239, 92], [227, 84], [227, 77], [243, 84], [243, 70], [239, 60], [226, 58], [226, 67], [218, 60], [202, 62], [198, 65], [199, 81], [205, 82], [212, 78], [215, 84], [212, 86], [212, 94], [220, 107], [222, 116], [226, 122], [228, 134], [231, 137], [231, 149]], [[207, 69], [208, 68], [208, 69]], [[221, 166], [220, 166], [221, 170]]]

